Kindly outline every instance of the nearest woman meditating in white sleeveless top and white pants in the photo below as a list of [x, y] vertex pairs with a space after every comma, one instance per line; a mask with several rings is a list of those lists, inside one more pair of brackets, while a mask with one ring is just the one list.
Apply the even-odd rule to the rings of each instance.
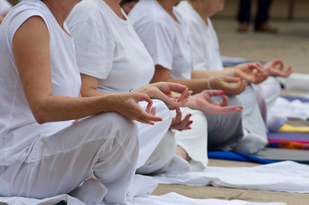
[[139, 153], [138, 126], [130, 119], [162, 121], [147, 94], [80, 97], [73, 38], [64, 24], [78, 2], [24, 0], [0, 27], [2, 196], [67, 194], [93, 171], [99, 181], [90, 185], [99, 196], [83, 200], [77, 191], [77, 198], [129, 204]]

